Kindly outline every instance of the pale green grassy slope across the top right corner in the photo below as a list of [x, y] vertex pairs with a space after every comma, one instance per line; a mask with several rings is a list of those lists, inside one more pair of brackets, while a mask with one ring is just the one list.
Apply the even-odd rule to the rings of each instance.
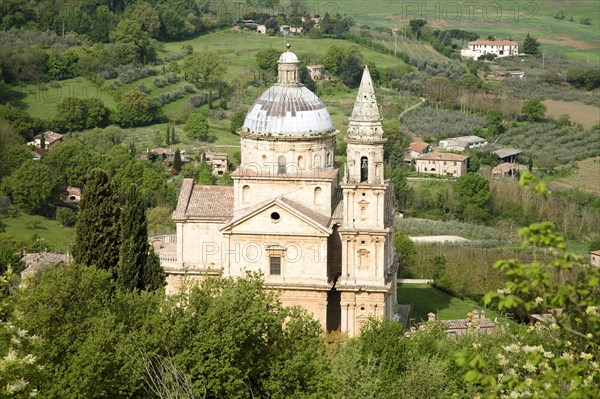
[[[474, 4], [470, 9], [468, 4]], [[330, 4], [330, 3], [328, 3]], [[399, 29], [408, 20], [425, 18], [434, 29], [460, 28], [481, 36], [496, 35], [522, 43], [530, 33], [537, 37], [546, 51], [556, 51], [578, 61], [600, 63], [600, 2], [596, 0], [544, 0], [530, 2], [456, 2], [453, 0], [422, 0], [392, 2], [389, 0], [345, 0], [335, 4], [340, 13], [352, 15], [357, 25], [395, 26]], [[499, 11], [495, 6], [499, 6]], [[516, 8], [518, 5], [518, 11]], [[315, 10], [318, 5], [315, 3]], [[574, 22], [559, 21], [552, 16], [559, 9], [572, 14]], [[472, 10], [472, 11], [470, 11]], [[318, 11], [318, 10], [317, 10]], [[324, 11], [321, 10], [324, 14]], [[497, 15], [499, 17], [497, 17]], [[590, 16], [592, 25], [582, 25], [579, 18]]]

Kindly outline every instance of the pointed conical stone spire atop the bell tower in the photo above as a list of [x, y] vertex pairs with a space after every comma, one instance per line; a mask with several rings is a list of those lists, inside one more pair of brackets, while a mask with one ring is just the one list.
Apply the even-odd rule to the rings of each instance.
[[383, 126], [381, 115], [375, 98], [373, 80], [369, 73], [369, 67], [365, 66], [363, 77], [358, 89], [358, 95], [354, 102], [354, 109], [348, 126], [349, 136], [382, 137]]

